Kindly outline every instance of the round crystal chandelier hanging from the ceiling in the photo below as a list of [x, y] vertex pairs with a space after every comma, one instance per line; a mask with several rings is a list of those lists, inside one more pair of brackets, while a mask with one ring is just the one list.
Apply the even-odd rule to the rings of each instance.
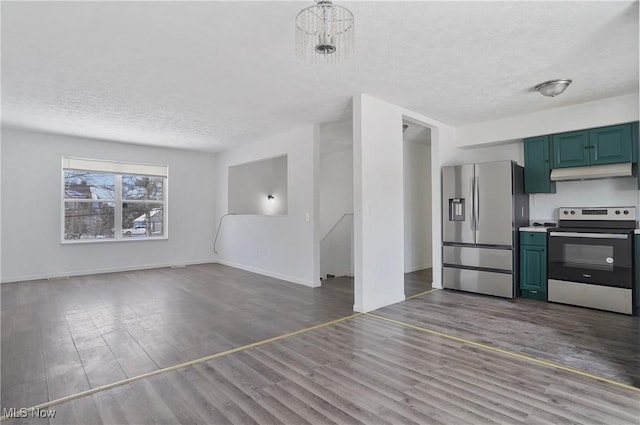
[[296, 54], [312, 63], [335, 63], [353, 51], [353, 13], [330, 0], [315, 0], [296, 16]]

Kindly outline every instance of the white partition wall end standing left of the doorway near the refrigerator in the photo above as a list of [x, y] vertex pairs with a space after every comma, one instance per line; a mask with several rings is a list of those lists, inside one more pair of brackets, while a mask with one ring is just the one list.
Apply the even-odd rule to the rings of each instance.
[[369, 96], [354, 99], [356, 311], [404, 299], [402, 115]]

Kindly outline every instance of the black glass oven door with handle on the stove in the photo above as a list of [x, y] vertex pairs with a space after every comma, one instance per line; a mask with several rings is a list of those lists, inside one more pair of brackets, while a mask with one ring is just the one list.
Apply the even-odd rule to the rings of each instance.
[[631, 232], [552, 230], [549, 233], [549, 279], [631, 288]]

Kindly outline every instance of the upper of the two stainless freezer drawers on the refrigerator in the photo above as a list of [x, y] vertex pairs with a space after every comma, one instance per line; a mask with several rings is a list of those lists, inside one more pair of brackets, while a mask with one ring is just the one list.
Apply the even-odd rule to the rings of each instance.
[[443, 246], [442, 262], [511, 271], [513, 270], [513, 252], [510, 249]]

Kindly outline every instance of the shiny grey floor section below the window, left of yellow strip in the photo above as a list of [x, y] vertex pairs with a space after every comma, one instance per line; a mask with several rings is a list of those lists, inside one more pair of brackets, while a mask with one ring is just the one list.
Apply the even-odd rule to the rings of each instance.
[[2, 406], [33, 406], [353, 313], [353, 285], [307, 288], [218, 264], [2, 285]]

